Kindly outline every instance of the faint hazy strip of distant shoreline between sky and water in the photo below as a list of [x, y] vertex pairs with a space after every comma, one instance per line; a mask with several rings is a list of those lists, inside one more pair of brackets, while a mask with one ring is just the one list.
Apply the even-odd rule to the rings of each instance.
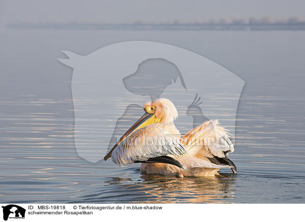
[[297, 23], [8, 23], [9, 29], [51, 30], [177, 30], [177, 31], [300, 31], [305, 22]]

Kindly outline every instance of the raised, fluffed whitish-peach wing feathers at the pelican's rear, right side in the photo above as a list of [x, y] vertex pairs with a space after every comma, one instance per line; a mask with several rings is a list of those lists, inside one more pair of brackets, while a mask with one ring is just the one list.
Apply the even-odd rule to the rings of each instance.
[[231, 135], [220, 126], [218, 120], [208, 120], [182, 136], [181, 143], [191, 155], [204, 151], [206, 157], [213, 157], [209, 156], [212, 154], [223, 158], [228, 152], [234, 151], [229, 136]]

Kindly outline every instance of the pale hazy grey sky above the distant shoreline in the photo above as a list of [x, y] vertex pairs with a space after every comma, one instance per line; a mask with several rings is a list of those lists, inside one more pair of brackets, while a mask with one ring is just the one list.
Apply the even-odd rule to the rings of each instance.
[[302, 0], [236, 1], [3, 1], [0, 22], [132, 22], [206, 21], [212, 18], [249, 18], [269, 16], [281, 19], [298, 16], [305, 19]]

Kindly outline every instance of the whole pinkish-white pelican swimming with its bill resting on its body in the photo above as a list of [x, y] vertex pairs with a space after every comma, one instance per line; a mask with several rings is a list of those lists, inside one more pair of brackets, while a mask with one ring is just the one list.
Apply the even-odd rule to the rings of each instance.
[[165, 98], [146, 102], [144, 115], [121, 136], [106, 154], [118, 165], [142, 163], [146, 174], [177, 177], [219, 175], [222, 168], [233, 174], [236, 166], [226, 157], [234, 151], [231, 136], [218, 120], [208, 120], [181, 136], [174, 125], [178, 112]]

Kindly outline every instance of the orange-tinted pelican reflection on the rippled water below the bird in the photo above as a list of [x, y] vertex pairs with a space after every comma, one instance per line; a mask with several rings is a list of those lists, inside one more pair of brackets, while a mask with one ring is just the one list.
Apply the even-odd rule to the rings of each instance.
[[116, 195], [130, 191], [130, 203], [231, 203], [234, 199], [236, 176], [232, 174], [206, 178], [141, 175], [140, 178], [133, 182], [131, 178], [112, 177], [105, 183], [114, 186]]

